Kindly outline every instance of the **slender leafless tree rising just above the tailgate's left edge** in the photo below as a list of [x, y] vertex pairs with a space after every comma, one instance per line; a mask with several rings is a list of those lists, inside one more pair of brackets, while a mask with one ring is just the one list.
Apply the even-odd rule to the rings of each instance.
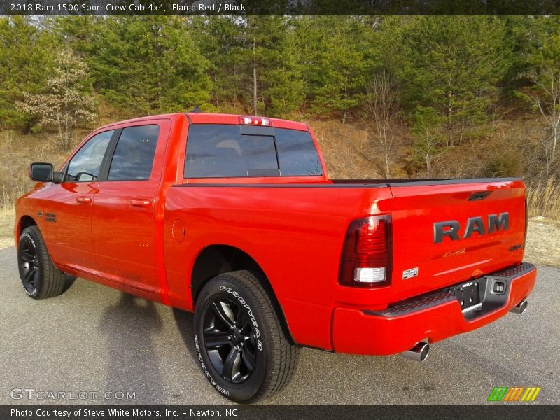
[[393, 80], [386, 73], [373, 76], [371, 82], [365, 85], [365, 92], [368, 137], [379, 150], [376, 160], [380, 163], [385, 178], [389, 179], [400, 146], [400, 141], [395, 136], [400, 115], [397, 92]]

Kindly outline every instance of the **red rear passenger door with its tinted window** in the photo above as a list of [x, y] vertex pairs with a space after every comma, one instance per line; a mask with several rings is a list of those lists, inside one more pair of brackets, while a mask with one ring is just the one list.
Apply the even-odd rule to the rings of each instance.
[[150, 292], [158, 286], [157, 195], [170, 128], [169, 120], [148, 120], [118, 130], [92, 212], [101, 275]]

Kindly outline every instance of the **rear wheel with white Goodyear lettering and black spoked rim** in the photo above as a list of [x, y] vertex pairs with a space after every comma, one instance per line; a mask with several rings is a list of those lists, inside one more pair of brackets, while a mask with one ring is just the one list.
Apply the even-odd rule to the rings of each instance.
[[293, 377], [299, 349], [258, 273], [229, 272], [211, 279], [195, 309], [195, 347], [204, 376], [225, 397], [256, 402]]

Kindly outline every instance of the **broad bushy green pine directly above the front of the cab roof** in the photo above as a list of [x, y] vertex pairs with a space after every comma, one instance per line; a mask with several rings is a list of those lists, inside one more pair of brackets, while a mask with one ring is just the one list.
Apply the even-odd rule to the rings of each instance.
[[181, 17], [111, 17], [92, 48], [94, 87], [130, 115], [188, 111], [210, 99], [209, 62]]

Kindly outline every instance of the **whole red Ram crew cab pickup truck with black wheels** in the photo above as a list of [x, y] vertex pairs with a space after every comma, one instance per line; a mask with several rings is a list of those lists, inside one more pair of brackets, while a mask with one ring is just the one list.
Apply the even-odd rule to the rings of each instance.
[[308, 125], [175, 113], [106, 125], [18, 200], [35, 299], [80, 276], [194, 311], [200, 367], [237, 402], [297, 349], [403, 353], [523, 312], [520, 179], [330, 180]]

